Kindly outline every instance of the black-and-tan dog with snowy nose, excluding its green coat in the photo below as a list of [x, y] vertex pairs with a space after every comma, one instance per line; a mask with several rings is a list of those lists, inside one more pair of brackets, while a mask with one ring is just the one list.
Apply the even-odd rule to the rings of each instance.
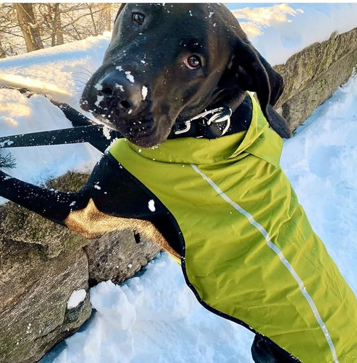
[[[250, 45], [223, 5], [123, 4], [113, 29], [81, 107], [132, 143], [148, 148], [167, 138], [215, 138], [247, 130], [252, 104], [246, 91], [256, 92], [271, 127], [291, 136], [271, 107], [283, 91], [282, 77]], [[221, 108], [232, 110], [230, 119], [224, 115], [222, 121], [207, 123], [201, 115], [192, 120]], [[172, 255], [182, 255], [168, 209], [109, 154], [76, 193], [46, 190], [0, 171], [0, 195], [87, 238], [132, 228]], [[154, 211], [148, 200], [154, 201]], [[255, 362], [296, 361], [260, 336], [252, 355]]]

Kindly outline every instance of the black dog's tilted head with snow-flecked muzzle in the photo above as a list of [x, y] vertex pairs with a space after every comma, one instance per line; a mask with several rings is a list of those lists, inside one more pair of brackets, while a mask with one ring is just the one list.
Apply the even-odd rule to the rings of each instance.
[[225, 6], [130, 3], [119, 9], [81, 107], [150, 147], [163, 142], [176, 121], [216, 106], [234, 110], [245, 90], [257, 93], [269, 118], [268, 105], [279, 98], [283, 79]]

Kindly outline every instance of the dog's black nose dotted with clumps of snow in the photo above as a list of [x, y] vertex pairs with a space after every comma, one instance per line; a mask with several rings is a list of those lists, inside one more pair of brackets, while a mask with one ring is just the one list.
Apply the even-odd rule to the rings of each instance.
[[97, 93], [97, 106], [111, 110], [119, 108], [131, 113], [139, 108], [143, 100], [140, 85], [135, 83], [130, 72], [114, 69], [106, 73], [94, 86]]

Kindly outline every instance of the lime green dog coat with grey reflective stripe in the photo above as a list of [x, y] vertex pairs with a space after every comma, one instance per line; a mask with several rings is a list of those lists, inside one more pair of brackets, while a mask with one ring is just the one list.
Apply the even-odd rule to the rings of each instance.
[[[112, 156], [169, 209], [186, 282], [210, 311], [302, 362], [357, 362], [357, 301], [279, 166], [282, 139], [252, 99], [250, 127]], [[159, 182], [158, 182], [159, 181]]]

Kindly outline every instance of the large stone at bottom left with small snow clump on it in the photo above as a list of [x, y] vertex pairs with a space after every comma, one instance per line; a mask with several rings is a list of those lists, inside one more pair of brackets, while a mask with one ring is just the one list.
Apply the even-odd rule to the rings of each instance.
[[88, 290], [87, 256], [48, 259], [39, 245], [11, 240], [0, 255], [0, 362], [36, 362], [91, 314], [89, 297], [66, 309], [74, 289]]

